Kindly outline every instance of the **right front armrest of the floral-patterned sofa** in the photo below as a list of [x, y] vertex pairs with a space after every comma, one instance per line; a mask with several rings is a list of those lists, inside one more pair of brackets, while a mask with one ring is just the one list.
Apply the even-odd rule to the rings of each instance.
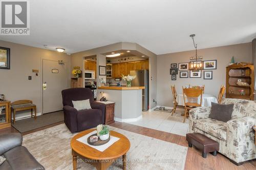
[[230, 158], [236, 162], [248, 160], [256, 152], [253, 126], [256, 117], [240, 117], [227, 122], [227, 149]]

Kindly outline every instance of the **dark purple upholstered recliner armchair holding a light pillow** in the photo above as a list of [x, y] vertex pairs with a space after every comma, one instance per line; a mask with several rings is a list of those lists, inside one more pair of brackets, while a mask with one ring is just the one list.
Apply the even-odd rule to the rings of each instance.
[[[94, 102], [90, 88], [69, 88], [61, 91], [64, 121], [69, 130], [80, 132], [105, 123], [105, 105]], [[92, 109], [77, 111], [72, 101], [90, 99]]]

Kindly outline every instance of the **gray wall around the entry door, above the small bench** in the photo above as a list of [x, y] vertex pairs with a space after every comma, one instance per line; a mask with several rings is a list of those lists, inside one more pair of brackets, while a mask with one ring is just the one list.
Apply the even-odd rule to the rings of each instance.
[[[41, 48], [22, 44], [0, 41], [0, 46], [10, 48], [10, 69], [0, 69], [0, 94], [5, 94], [7, 100], [32, 100], [37, 106], [37, 112], [42, 111], [42, 59], [63, 60], [67, 62], [70, 71], [70, 56]], [[32, 69], [39, 69], [38, 76]], [[32, 80], [28, 80], [32, 76]], [[70, 77], [67, 79], [70, 85]], [[25, 113], [26, 114], [26, 113]], [[28, 113], [30, 114], [30, 113]], [[17, 116], [24, 114], [17, 114]]]

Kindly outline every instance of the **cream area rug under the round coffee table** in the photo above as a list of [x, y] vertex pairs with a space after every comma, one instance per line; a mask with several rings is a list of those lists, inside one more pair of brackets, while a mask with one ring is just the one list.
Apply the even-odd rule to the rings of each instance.
[[[110, 128], [125, 135], [131, 142], [131, 148], [126, 154], [126, 169], [184, 169], [187, 147]], [[70, 140], [74, 135], [65, 124], [61, 124], [25, 135], [23, 145], [46, 169], [73, 169]], [[77, 167], [96, 169], [84, 162], [78, 162]], [[108, 169], [122, 169], [122, 162], [114, 163]]]

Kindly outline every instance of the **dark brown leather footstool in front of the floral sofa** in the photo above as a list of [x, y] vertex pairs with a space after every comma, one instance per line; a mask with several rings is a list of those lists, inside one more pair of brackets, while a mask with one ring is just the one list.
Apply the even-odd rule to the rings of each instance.
[[187, 133], [186, 140], [188, 147], [194, 145], [197, 149], [202, 151], [202, 157], [206, 158], [207, 153], [211, 153], [216, 156], [219, 151], [219, 143], [215, 140], [208, 138], [200, 133]]

